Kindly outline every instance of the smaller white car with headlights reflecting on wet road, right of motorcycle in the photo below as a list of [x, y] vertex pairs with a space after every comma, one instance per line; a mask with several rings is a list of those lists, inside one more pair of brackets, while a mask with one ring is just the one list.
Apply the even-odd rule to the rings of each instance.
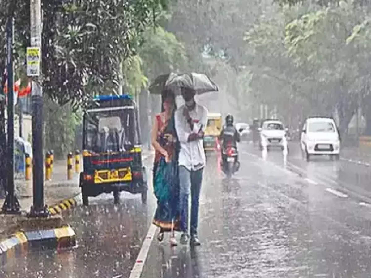
[[262, 123], [260, 131], [260, 149], [279, 147], [282, 150], [288, 149], [286, 132], [283, 123], [278, 120], [266, 120]]

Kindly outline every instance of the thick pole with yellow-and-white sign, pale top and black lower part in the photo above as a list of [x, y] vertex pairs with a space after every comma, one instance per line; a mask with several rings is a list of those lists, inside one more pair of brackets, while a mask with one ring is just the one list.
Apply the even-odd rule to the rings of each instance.
[[31, 78], [33, 205], [29, 216], [49, 216], [44, 206], [43, 88], [41, 60], [41, 0], [30, 0], [31, 47], [27, 48], [27, 76]]

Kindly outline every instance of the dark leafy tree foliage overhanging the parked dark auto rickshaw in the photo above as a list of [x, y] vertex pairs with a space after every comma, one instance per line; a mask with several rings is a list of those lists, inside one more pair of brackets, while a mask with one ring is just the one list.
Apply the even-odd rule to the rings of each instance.
[[[29, 45], [30, 1], [4, 0], [0, 28], [15, 17], [16, 68], [24, 66]], [[113, 93], [119, 86], [119, 64], [135, 56], [141, 34], [155, 24], [167, 0], [56, 0], [43, 1], [44, 92], [53, 102], [75, 111], [88, 99]], [[5, 45], [5, 36], [0, 36]], [[5, 49], [0, 57], [6, 57]], [[4, 58], [0, 70], [4, 69]]]

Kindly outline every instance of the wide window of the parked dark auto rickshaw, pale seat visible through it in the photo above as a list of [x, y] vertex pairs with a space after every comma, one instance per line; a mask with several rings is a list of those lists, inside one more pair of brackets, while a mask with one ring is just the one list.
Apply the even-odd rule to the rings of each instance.
[[139, 145], [134, 107], [107, 107], [85, 113], [85, 149], [96, 153], [130, 150]]

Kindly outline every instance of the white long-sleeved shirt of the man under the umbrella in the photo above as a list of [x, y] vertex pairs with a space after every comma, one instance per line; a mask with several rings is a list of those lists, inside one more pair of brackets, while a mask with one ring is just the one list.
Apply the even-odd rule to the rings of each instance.
[[188, 142], [188, 136], [201, 130], [205, 132], [207, 124], [207, 109], [204, 106], [196, 104], [196, 107], [189, 111], [193, 120], [193, 130], [187, 119], [183, 115], [185, 105], [175, 111], [175, 130], [180, 141], [179, 166], [184, 166], [189, 171], [197, 171], [204, 168], [206, 164], [203, 140], [194, 140]]

